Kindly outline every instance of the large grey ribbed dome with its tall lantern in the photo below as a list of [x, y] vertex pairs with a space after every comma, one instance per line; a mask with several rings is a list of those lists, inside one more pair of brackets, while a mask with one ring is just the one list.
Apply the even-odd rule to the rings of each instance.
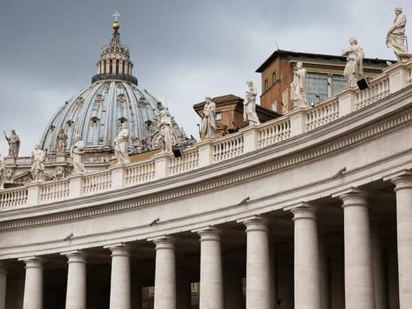
[[[115, 136], [124, 122], [130, 132], [129, 149], [137, 139], [146, 141], [148, 150], [157, 148], [157, 122], [165, 106], [138, 86], [131, 74], [128, 47], [121, 45], [117, 29], [111, 43], [102, 48], [98, 74], [93, 76], [91, 86], [60, 106], [45, 128], [41, 146], [47, 153], [56, 153], [62, 131], [67, 135], [67, 151], [79, 134], [87, 152], [113, 152]], [[183, 128], [174, 120], [173, 128], [176, 142], [185, 140]]]

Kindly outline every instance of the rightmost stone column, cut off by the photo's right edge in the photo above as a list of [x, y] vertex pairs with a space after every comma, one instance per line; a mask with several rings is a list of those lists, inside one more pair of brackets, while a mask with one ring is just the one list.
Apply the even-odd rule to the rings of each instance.
[[412, 174], [392, 179], [396, 192], [400, 309], [412, 304]]

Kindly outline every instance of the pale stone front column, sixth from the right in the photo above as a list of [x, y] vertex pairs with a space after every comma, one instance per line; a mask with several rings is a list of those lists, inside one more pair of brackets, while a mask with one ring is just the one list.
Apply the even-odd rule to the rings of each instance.
[[176, 258], [174, 240], [152, 239], [156, 244], [155, 309], [176, 309]]

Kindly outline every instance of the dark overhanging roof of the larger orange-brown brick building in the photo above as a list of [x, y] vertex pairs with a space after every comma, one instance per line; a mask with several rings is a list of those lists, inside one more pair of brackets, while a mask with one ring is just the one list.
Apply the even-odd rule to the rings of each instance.
[[[325, 60], [325, 61], [330, 61], [330, 62], [346, 62], [346, 56], [336, 56], [336, 55], [325, 55], [325, 54], [312, 54], [312, 53], [306, 53], [306, 52], [292, 52], [288, 50], [283, 50], [283, 49], [277, 49], [269, 58], [267, 58], [258, 69], [256, 69], [256, 73], [262, 73], [268, 65], [270, 65], [275, 58], [278, 56], [284, 58], [284, 59], [296, 59], [296, 58], [301, 58], [302, 60], [304, 59], [318, 59], [318, 60]], [[387, 61], [394, 62], [394, 60], [386, 60], [386, 59], [379, 59], [379, 58], [364, 58], [363, 62], [367, 63], [368, 65], [371, 66], [376, 66], [376, 67], [387, 67]]]

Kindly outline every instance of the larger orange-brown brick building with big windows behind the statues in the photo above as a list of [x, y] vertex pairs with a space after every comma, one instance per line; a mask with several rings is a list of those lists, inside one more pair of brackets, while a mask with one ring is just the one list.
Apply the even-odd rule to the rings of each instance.
[[[332, 93], [346, 87], [343, 70], [345, 56], [309, 54], [277, 49], [256, 70], [262, 74], [262, 95], [260, 105], [265, 108], [285, 113], [292, 108], [290, 83], [297, 62], [302, 62], [308, 71], [306, 89], [308, 104], [328, 98]], [[364, 76], [370, 78], [387, 67], [387, 60], [365, 58]]]

